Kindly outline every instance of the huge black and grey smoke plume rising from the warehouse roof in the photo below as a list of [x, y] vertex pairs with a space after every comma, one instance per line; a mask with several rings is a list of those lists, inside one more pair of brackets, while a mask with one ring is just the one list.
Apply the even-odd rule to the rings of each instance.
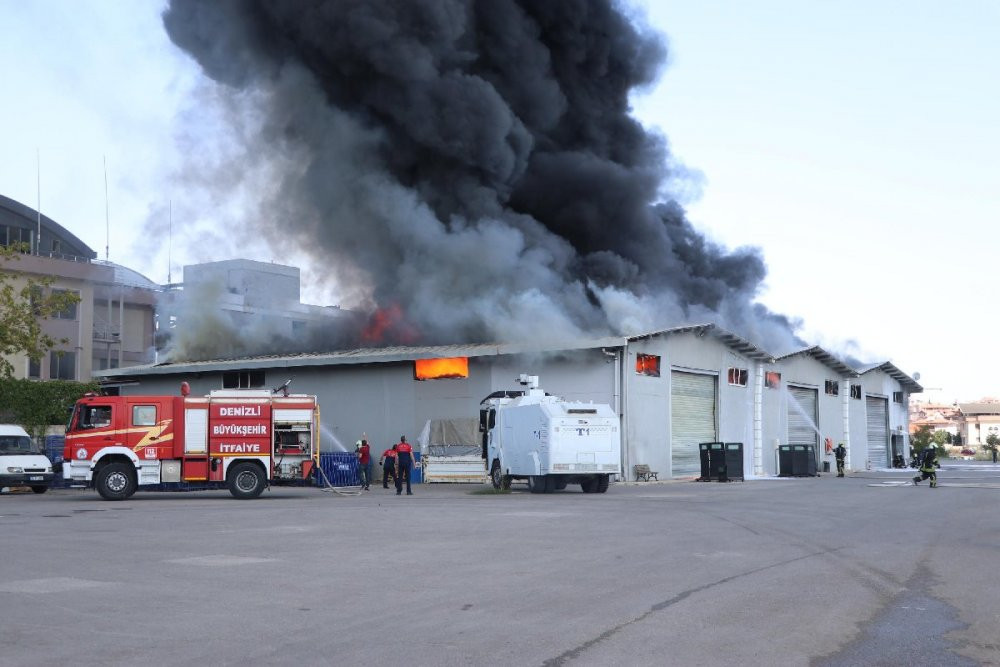
[[307, 250], [346, 305], [401, 312], [409, 338], [714, 321], [791, 340], [754, 303], [759, 252], [707, 240], [662, 193], [667, 142], [629, 95], [666, 43], [626, 7], [172, 0], [163, 20], [251, 107], [240, 154], [278, 165], [248, 224]]

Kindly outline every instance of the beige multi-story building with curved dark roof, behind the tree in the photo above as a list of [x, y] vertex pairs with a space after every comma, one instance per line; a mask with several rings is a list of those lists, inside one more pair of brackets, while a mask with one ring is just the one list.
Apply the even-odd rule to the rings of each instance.
[[98, 260], [96, 252], [51, 218], [0, 195], [0, 244], [15, 243], [25, 244], [27, 252], [0, 267], [14, 276], [15, 286], [48, 277], [49, 289], [80, 297], [75, 306], [43, 323], [47, 334], [65, 343], [42, 359], [8, 357], [15, 377], [87, 380], [95, 370], [153, 361], [159, 285]]

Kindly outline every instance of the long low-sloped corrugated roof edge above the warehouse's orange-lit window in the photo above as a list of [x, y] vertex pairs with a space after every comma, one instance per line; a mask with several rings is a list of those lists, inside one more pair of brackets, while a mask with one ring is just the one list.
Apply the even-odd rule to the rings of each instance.
[[129, 366], [94, 371], [95, 377], [113, 378], [135, 375], [173, 375], [177, 373], [205, 373], [233, 369], [294, 368], [299, 366], [339, 366], [347, 364], [377, 364], [415, 359], [448, 357], [485, 357], [501, 354], [532, 352], [559, 352], [599, 347], [621, 347], [624, 338], [608, 337], [566, 343], [479, 343], [469, 345], [433, 345], [424, 347], [381, 347], [339, 350], [322, 353], [264, 355], [238, 359], [211, 359], [206, 361], [164, 362], [144, 366]]

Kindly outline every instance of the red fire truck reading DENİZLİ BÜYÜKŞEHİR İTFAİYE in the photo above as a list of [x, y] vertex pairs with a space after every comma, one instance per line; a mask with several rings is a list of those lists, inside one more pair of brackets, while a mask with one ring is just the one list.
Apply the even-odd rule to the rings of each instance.
[[[319, 457], [315, 396], [269, 390], [192, 397], [88, 394], [73, 408], [63, 477], [106, 500], [141, 487], [228, 488], [256, 498], [269, 484], [305, 483]], [[279, 390], [276, 390], [279, 391]]]

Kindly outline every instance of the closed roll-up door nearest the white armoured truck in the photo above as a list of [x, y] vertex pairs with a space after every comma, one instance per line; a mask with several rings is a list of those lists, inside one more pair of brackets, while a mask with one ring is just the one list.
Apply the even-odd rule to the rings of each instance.
[[714, 442], [715, 376], [670, 373], [670, 460], [674, 477], [701, 473], [699, 442]]

